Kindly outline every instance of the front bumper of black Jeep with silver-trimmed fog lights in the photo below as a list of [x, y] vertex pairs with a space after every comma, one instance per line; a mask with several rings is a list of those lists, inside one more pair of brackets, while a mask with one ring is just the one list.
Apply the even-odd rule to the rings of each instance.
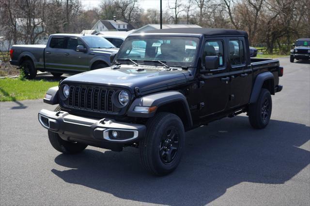
[[[141, 124], [117, 122], [107, 118], [83, 118], [64, 111], [53, 112], [46, 109], [39, 112], [38, 118], [44, 128], [57, 132], [66, 141], [109, 149], [115, 144], [122, 147], [137, 142], [146, 130], [145, 125]], [[112, 135], [113, 131], [118, 137]]]

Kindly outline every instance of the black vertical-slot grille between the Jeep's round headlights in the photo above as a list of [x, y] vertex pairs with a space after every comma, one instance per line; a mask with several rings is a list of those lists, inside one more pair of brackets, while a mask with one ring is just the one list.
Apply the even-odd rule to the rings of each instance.
[[82, 110], [113, 112], [114, 93], [113, 89], [70, 86], [67, 106]]

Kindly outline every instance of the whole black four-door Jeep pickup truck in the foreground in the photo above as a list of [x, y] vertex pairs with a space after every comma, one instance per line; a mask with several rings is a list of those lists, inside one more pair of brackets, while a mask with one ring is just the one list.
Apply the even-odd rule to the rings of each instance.
[[282, 89], [279, 60], [250, 59], [245, 31], [131, 34], [111, 58], [111, 67], [48, 89], [44, 102], [59, 106], [42, 109], [39, 121], [62, 153], [139, 147], [143, 167], [158, 176], [178, 166], [186, 131], [245, 112], [252, 127], [266, 127], [271, 95]]

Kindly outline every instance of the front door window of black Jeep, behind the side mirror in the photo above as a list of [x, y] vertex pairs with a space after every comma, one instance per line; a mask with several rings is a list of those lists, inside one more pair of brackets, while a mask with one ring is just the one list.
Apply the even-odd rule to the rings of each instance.
[[217, 56], [218, 67], [224, 66], [224, 49], [222, 41], [207, 41], [204, 45], [202, 62], [205, 64], [205, 56]]

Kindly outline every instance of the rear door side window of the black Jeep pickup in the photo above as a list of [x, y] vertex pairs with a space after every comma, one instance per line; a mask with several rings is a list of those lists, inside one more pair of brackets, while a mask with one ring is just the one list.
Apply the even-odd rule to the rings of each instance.
[[245, 63], [244, 47], [242, 40], [229, 41], [229, 60], [232, 66]]

